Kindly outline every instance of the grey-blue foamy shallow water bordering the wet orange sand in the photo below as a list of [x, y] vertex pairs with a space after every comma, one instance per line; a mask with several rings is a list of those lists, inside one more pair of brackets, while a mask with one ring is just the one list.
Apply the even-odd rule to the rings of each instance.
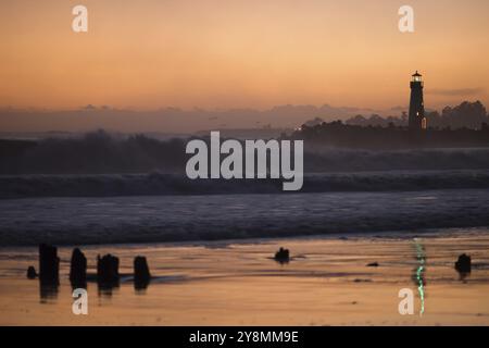
[[489, 189], [0, 200], [0, 245], [129, 244], [489, 226]]

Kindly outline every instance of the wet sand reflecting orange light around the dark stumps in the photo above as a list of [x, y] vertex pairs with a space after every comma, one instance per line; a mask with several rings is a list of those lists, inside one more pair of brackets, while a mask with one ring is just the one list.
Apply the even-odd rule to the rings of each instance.
[[[289, 263], [272, 259], [279, 247]], [[88, 283], [88, 315], [72, 313], [72, 247], [59, 248], [61, 285], [27, 279], [36, 247], [0, 248], [1, 325], [489, 325], [489, 229], [229, 240], [205, 244], [80, 246], [89, 273], [97, 254], [121, 260], [118, 288]], [[462, 276], [453, 264], [472, 256]], [[154, 277], [134, 288], [134, 257]], [[367, 266], [377, 262], [378, 266]], [[401, 288], [414, 314], [401, 315]]]

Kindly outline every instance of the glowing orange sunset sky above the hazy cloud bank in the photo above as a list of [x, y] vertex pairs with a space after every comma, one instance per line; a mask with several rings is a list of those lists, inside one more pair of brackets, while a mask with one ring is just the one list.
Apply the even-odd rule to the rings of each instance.
[[488, 23], [487, 0], [1, 1], [0, 107], [383, 109], [408, 104], [414, 70], [428, 108], [489, 104]]

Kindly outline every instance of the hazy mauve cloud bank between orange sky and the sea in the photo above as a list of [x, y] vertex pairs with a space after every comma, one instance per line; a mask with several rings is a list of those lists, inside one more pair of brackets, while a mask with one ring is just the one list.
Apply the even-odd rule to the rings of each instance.
[[[454, 107], [454, 105], [450, 105]], [[434, 109], [427, 108], [427, 111]], [[358, 107], [275, 105], [269, 109], [117, 109], [109, 105], [85, 105], [65, 110], [0, 108], [2, 133], [84, 133], [106, 129], [121, 133], [191, 134], [210, 129], [292, 129], [308, 121], [347, 121], [355, 115], [377, 114], [400, 119], [405, 107], [374, 110]], [[441, 112], [441, 109], [437, 111]]]

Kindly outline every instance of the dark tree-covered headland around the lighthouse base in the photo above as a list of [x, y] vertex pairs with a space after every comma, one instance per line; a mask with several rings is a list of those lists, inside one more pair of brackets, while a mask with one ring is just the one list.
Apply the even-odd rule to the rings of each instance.
[[294, 130], [291, 138], [304, 139], [309, 147], [346, 148], [435, 148], [489, 146], [489, 115], [480, 101], [446, 107], [428, 112], [428, 129], [409, 132], [408, 115], [401, 117], [356, 115], [344, 122], [314, 119]]

